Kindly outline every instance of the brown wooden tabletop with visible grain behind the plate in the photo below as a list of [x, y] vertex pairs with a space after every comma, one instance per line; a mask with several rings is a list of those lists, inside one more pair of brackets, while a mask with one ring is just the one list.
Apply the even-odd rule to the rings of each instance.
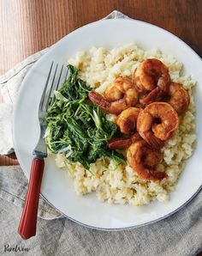
[[[202, 56], [201, 0], [1, 0], [0, 74], [114, 9], [165, 28]], [[0, 155], [0, 164], [17, 161]]]

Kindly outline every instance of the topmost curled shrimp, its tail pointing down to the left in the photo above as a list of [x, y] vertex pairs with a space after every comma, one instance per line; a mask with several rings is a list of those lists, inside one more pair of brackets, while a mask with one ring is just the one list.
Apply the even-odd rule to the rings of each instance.
[[161, 96], [169, 91], [169, 70], [157, 58], [147, 58], [134, 71], [133, 82], [140, 92], [151, 91], [142, 99], [144, 104], [159, 101]]

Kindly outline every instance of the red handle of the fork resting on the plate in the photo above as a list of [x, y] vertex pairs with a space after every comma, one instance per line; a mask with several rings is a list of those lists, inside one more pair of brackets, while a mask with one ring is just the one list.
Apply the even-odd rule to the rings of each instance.
[[33, 159], [27, 197], [21, 214], [21, 222], [18, 227], [18, 233], [23, 239], [28, 239], [36, 235], [39, 193], [44, 167], [44, 159]]

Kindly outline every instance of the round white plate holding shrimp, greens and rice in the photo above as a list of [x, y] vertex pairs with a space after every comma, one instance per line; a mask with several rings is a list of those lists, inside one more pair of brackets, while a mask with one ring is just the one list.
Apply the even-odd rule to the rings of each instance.
[[185, 72], [192, 74], [198, 81], [195, 94], [197, 107], [198, 147], [166, 204], [152, 202], [146, 206], [110, 205], [100, 203], [95, 194], [77, 197], [73, 189], [73, 180], [68, 180], [62, 170], [56, 168], [52, 158], [45, 161], [41, 193], [68, 218], [94, 229], [128, 229], [156, 222], [171, 215], [186, 204], [199, 192], [202, 185], [201, 155], [202, 147], [202, 62], [199, 56], [173, 34], [162, 28], [133, 20], [98, 21], [77, 29], [56, 43], [27, 74], [14, 115], [14, 143], [17, 158], [27, 177], [33, 160], [33, 148], [39, 138], [37, 119], [40, 96], [52, 60], [65, 63], [68, 58], [80, 50], [92, 46], [115, 47], [135, 42], [145, 50], [159, 48], [173, 55], [184, 64]]

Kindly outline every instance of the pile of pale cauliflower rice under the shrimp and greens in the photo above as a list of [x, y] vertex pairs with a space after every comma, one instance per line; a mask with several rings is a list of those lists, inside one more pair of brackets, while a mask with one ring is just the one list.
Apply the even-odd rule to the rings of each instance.
[[[169, 68], [171, 80], [181, 83], [190, 95], [190, 105], [180, 117], [179, 129], [162, 149], [163, 162], [158, 168], [165, 171], [167, 177], [156, 182], [143, 180], [128, 165], [117, 165], [110, 159], [99, 159], [87, 171], [79, 162], [69, 163], [64, 155], [56, 155], [57, 167], [67, 170], [69, 177], [74, 179], [74, 189], [78, 195], [96, 192], [100, 201], [110, 204], [143, 205], [154, 199], [166, 202], [169, 191], [175, 188], [185, 167], [185, 160], [193, 154], [196, 134], [192, 88], [195, 82], [191, 76], [181, 75], [182, 64], [174, 57], [156, 49], [143, 51], [132, 43], [112, 50], [92, 47], [87, 52], [77, 52], [68, 63], [79, 68], [80, 78], [103, 94], [117, 76], [131, 77], [134, 69], [146, 58], [161, 60]], [[115, 116], [109, 114], [107, 118], [114, 120]]]

